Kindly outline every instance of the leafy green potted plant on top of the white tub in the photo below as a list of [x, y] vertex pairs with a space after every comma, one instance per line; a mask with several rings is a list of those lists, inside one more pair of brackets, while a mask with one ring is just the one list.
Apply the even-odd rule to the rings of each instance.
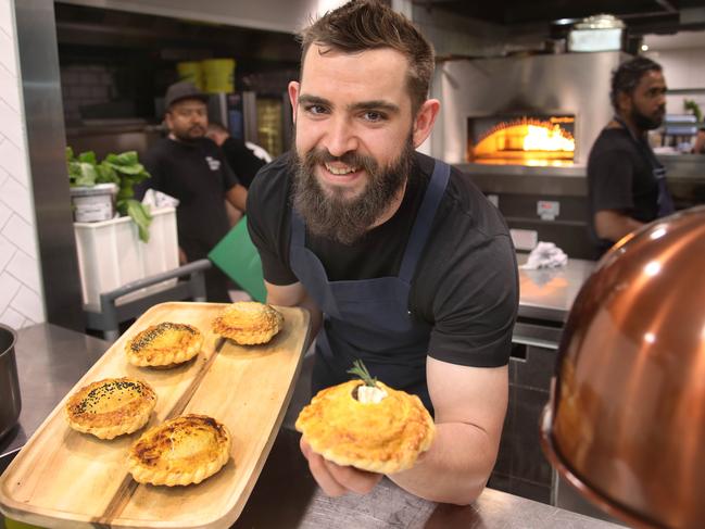
[[[73, 149], [67, 147], [66, 165], [72, 197], [93, 197], [88, 207], [92, 207], [93, 212], [98, 211], [99, 215], [106, 215], [108, 218], [112, 217], [110, 206], [114, 203], [121, 215], [127, 215], [135, 222], [140, 240], [149, 241], [149, 225], [152, 216], [149, 210], [134, 197], [135, 185], [149, 178], [150, 175], [139, 163], [137, 152], [111, 153], [99, 163], [93, 151], [81, 152], [75, 156]], [[102, 200], [96, 200], [95, 197], [102, 197]], [[90, 219], [90, 216], [87, 219]]]

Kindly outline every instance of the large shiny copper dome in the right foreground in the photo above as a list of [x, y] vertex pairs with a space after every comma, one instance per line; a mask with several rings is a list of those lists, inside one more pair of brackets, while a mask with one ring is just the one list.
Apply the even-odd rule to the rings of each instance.
[[542, 442], [586, 497], [632, 527], [703, 527], [705, 206], [619, 241], [563, 333]]

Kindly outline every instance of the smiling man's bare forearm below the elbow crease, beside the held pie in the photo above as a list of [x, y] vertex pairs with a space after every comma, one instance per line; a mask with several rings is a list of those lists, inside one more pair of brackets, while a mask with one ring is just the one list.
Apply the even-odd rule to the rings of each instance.
[[430, 450], [410, 470], [390, 475], [402, 489], [439, 503], [467, 505], [484, 489], [496, 459], [496, 446], [471, 425], [437, 425]]

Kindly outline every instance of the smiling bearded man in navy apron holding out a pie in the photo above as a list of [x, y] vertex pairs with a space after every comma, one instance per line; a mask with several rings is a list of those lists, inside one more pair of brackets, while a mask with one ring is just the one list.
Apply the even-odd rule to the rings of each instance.
[[[289, 85], [295, 140], [249, 190], [249, 229], [267, 301], [306, 307], [316, 339], [312, 390], [355, 360], [435, 413], [437, 438], [390, 476], [437, 502], [468, 504], [498, 454], [518, 305], [514, 248], [467, 176], [415, 149], [440, 103], [433, 51], [401, 14], [350, 2], [302, 34]], [[381, 475], [302, 452], [325, 492], [368, 492]]]

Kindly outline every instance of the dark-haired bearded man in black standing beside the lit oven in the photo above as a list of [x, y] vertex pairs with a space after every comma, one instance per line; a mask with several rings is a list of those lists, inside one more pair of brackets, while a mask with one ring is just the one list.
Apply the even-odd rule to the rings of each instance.
[[591, 237], [595, 257], [640, 226], [673, 212], [666, 171], [646, 133], [666, 113], [666, 80], [658, 63], [638, 56], [612, 75], [614, 118], [588, 159]]

